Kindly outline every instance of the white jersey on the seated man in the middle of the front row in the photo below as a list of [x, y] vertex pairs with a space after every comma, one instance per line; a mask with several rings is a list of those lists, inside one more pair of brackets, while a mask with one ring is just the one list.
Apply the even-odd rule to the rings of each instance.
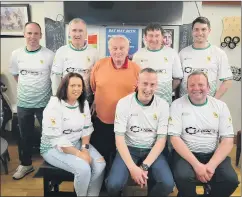
[[151, 149], [157, 138], [167, 136], [169, 104], [154, 95], [149, 106], [137, 99], [137, 93], [119, 100], [116, 107], [114, 132], [125, 136], [127, 146]]

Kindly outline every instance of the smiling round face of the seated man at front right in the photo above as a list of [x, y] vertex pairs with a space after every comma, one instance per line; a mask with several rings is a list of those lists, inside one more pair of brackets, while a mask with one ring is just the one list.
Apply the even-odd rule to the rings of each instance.
[[187, 92], [194, 104], [204, 103], [209, 92], [207, 78], [202, 74], [190, 76], [187, 81]]

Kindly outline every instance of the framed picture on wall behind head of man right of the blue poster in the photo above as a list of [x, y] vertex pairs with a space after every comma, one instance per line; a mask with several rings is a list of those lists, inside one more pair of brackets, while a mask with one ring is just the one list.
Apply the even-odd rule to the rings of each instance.
[[[174, 43], [174, 29], [163, 29], [163, 43], [164, 45], [173, 48]], [[144, 29], [142, 29], [142, 48], [146, 47], [146, 41], [145, 41], [145, 35], [144, 35]]]

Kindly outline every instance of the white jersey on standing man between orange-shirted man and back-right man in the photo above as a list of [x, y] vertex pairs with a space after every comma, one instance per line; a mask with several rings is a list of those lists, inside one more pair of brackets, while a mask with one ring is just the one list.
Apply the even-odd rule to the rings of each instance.
[[157, 72], [158, 87], [155, 94], [171, 104], [172, 79], [183, 78], [178, 53], [167, 46], [163, 46], [160, 50], [155, 51], [141, 48], [134, 54], [133, 61], [142, 69], [150, 67]]

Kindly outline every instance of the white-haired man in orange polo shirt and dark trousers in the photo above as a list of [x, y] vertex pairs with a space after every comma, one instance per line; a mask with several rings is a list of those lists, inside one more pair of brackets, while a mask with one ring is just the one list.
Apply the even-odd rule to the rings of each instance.
[[92, 113], [94, 132], [91, 144], [103, 155], [107, 169], [110, 159], [115, 155], [114, 119], [119, 99], [135, 91], [140, 67], [128, 60], [129, 40], [116, 35], [108, 41], [111, 57], [106, 57], [94, 65], [90, 84], [94, 93]]

